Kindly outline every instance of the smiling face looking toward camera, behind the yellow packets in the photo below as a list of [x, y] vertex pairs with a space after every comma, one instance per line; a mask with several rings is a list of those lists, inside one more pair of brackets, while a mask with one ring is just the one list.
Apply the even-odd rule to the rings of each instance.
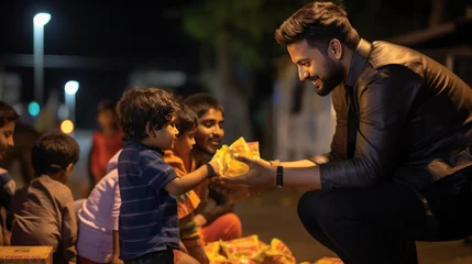
[[195, 134], [196, 147], [208, 155], [215, 155], [224, 136], [223, 123], [223, 113], [213, 108], [198, 118], [198, 128]]

